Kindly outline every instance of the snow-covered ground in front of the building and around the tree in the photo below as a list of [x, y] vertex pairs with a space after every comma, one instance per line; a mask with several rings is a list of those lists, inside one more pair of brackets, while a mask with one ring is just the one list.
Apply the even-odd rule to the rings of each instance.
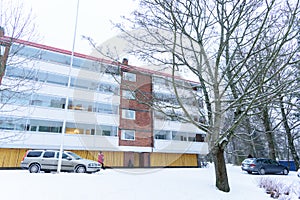
[[[95, 174], [40, 173], [0, 170], [0, 199], [3, 200], [266, 200], [259, 188], [261, 175], [249, 175], [228, 165], [231, 191], [215, 188], [212, 165], [208, 168], [106, 169]], [[300, 184], [296, 172], [288, 176], [264, 175]]]

